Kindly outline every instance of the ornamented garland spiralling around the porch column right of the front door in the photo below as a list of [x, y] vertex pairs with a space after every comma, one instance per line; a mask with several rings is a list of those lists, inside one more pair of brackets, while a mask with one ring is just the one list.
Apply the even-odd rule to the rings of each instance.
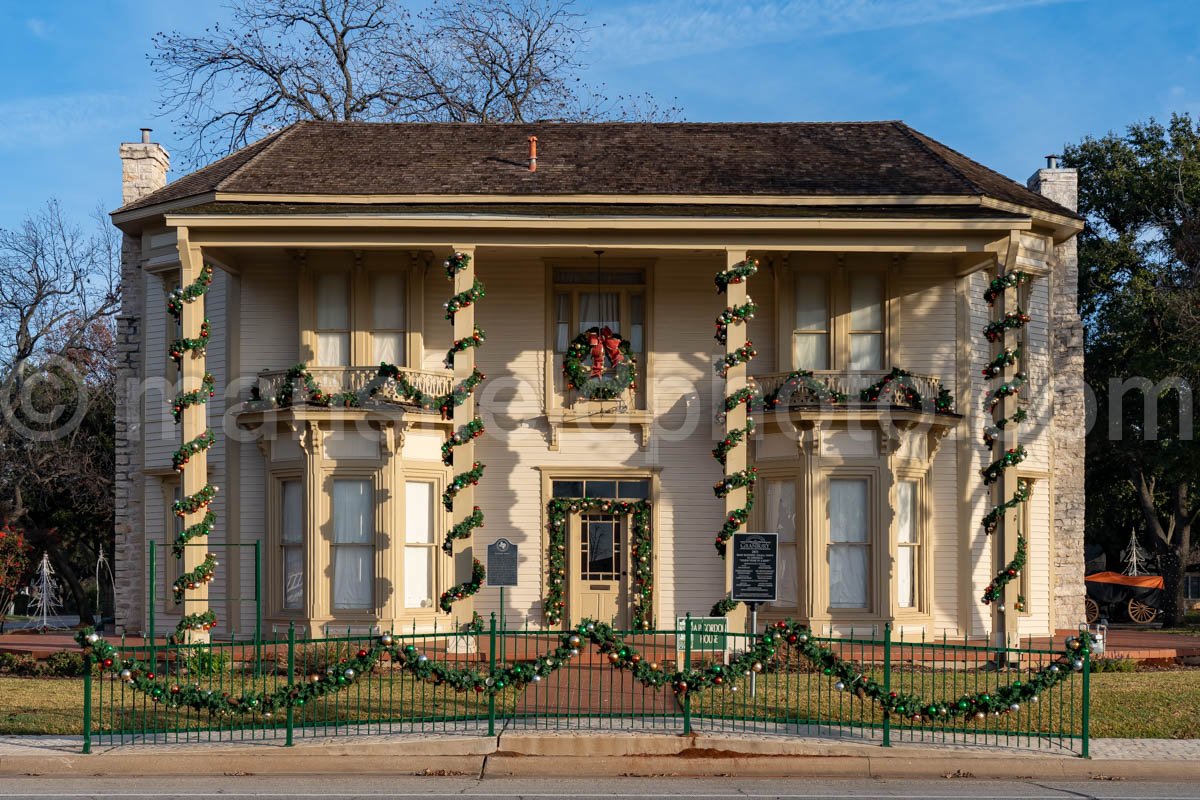
[[[725, 294], [731, 284], [743, 283], [749, 281], [758, 271], [758, 261], [748, 258], [727, 270], [718, 272], [713, 278], [716, 284], [716, 293]], [[738, 306], [726, 306], [716, 317], [716, 333], [714, 338], [721, 344], [727, 344], [730, 338], [730, 325], [748, 325], [754, 314], [757, 311], [754, 301], [746, 297], [746, 302]], [[733, 353], [725, 354], [724, 359], [716, 365], [716, 374], [721, 378], [727, 378], [730, 369], [737, 365], [748, 365], [757, 356], [758, 353], [755, 350], [754, 344], [746, 338], [746, 343]], [[762, 395], [758, 392], [757, 386], [743, 386], [742, 389], [730, 392], [725, 396], [725, 414], [720, 414], [719, 419], [725, 422], [730, 411], [736, 409], [740, 404], [745, 404], [746, 413], [755, 410], [756, 407], [761, 407]], [[751, 420], [746, 420], [744, 428], [733, 428], [726, 431], [725, 438], [721, 443], [713, 450], [713, 458], [721, 465], [724, 471], [730, 452], [737, 447], [739, 444], [744, 444], [746, 437], [754, 431], [754, 423]], [[716, 554], [724, 560], [726, 545], [733, 534], [742, 528], [750, 518], [750, 511], [754, 509], [754, 487], [758, 480], [758, 470], [750, 468], [738, 470], [736, 473], [725, 474], [716, 485], [713, 486], [713, 492], [718, 498], [725, 498], [736, 488], [744, 488], [746, 491], [746, 500], [740, 509], [734, 509], [728, 512], [725, 517], [725, 522], [721, 524], [720, 530], [716, 531], [716, 537], [713, 546], [716, 548]], [[734, 608], [737, 608], [737, 602], [732, 601], [726, 596], [719, 600], [712, 609], [714, 616], [725, 616]]]

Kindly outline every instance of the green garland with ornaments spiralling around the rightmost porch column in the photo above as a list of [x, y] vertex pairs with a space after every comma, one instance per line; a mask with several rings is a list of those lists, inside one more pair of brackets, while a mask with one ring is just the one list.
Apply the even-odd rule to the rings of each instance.
[[[1008, 289], [1015, 289], [1024, 283], [1032, 281], [1032, 276], [1027, 272], [1013, 271], [1004, 275], [997, 276], [991, 279], [988, 284], [988, 289], [983, 294], [984, 301], [989, 307], [995, 307], [996, 300]], [[988, 323], [983, 329], [983, 335], [989, 342], [995, 344], [1004, 338], [1004, 332], [1008, 330], [1018, 330], [1025, 327], [1030, 323], [1030, 315], [1018, 307], [1016, 311], [1010, 311], [1004, 314], [1002, 319]], [[1020, 348], [1002, 348], [986, 365], [984, 365], [982, 372], [983, 377], [989, 380], [997, 380], [1003, 374], [1006, 367], [1016, 366], [1021, 360]], [[1020, 425], [1027, 419], [1024, 409], [1016, 409], [1012, 416], [996, 416], [1001, 402], [1006, 397], [1012, 397], [1016, 395], [1021, 386], [1025, 385], [1027, 378], [1024, 372], [1018, 372], [1013, 380], [1002, 381], [997, 387], [988, 392], [984, 398], [983, 407], [984, 411], [992, 415], [992, 421], [990, 425], [984, 426], [983, 429], [983, 441], [989, 449], [992, 447], [1000, 439], [1001, 433], [1012, 425]], [[995, 459], [992, 463], [979, 470], [983, 477], [984, 486], [991, 486], [1000, 480], [1006, 469], [1012, 469], [1025, 461], [1026, 450], [1022, 445], [1012, 447], [1006, 451], [1000, 458]], [[1021, 506], [1027, 503], [1032, 495], [1032, 487], [1028, 481], [1019, 480], [1016, 482], [1016, 491], [1013, 492], [1013, 497], [1003, 500], [1002, 503], [992, 506], [983, 517], [980, 525], [983, 527], [984, 535], [990, 536], [1000, 527], [1001, 519], [1006, 512]], [[1016, 549], [1013, 554], [1012, 560], [1001, 569], [995, 577], [992, 577], [991, 583], [983, 591], [980, 597], [983, 604], [989, 606], [991, 603], [1001, 603], [1004, 596], [1004, 587], [1007, 587], [1013, 581], [1016, 581], [1021, 572], [1025, 570], [1025, 563], [1028, 554], [1028, 543], [1022, 534], [1016, 536]], [[1025, 596], [1018, 595], [1015, 610], [1025, 610]], [[1004, 606], [998, 606], [1000, 610], [1004, 610]]]

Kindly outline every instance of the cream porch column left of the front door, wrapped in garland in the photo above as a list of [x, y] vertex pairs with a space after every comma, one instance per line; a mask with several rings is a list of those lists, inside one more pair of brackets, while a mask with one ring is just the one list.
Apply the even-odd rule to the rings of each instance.
[[[468, 257], [467, 267], [461, 270], [454, 277], [454, 291], [458, 294], [461, 291], [467, 291], [475, 283], [475, 247], [474, 245], [456, 246], [454, 252], [462, 253]], [[475, 331], [475, 303], [470, 303], [460, 308], [454, 315], [454, 339], [468, 339]], [[475, 348], [467, 348], [462, 353], [456, 353], [454, 356], [454, 384], [457, 386], [462, 381], [470, 378], [475, 372]], [[466, 398], [461, 405], [456, 405], [454, 409], [454, 426], [451, 431], [460, 431], [463, 426], [475, 419], [475, 393], [467, 392]], [[468, 439], [464, 444], [455, 447], [454, 451], [454, 468], [450, 470], [451, 474], [463, 473], [470, 469], [472, 464], [475, 463], [475, 440]], [[451, 525], [457, 525], [458, 523], [466, 521], [472, 516], [475, 509], [475, 487], [468, 483], [466, 487], [458, 491], [458, 495], [455, 498], [454, 515], [450, 519]], [[470, 579], [472, 563], [474, 560], [475, 551], [475, 537], [472, 536], [458, 540], [454, 543], [454, 583], [462, 583]], [[474, 612], [475, 601], [474, 597], [467, 596], [457, 601], [454, 607], [454, 614], [457, 619], [470, 620]]]

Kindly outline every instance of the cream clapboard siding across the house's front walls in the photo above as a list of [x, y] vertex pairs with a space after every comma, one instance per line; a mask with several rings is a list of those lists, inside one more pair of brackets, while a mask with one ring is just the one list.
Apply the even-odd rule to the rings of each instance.
[[[402, 258], [407, 263], [407, 258]], [[751, 296], [760, 306], [760, 313], [750, 324], [749, 335], [758, 350], [752, 372], [766, 373], [786, 368], [776, 362], [775, 296], [773, 259], [763, 259], [763, 270], [750, 285]], [[802, 264], [792, 257], [793, 269]], [[486, 527], [476, 533], [476, 553], [482, 555], [486, 546], [504, 536], [521, 546], [521, 587], [510, 590], [505, 609], [515, 622], [528, 616], [530, 622], [541, 620], [542, 587], [542, 525], [544, 504], [541, 471], [559, 471], [571, 476], [605, 476], [611, 467], [632, 469], [658, 469], [660, 494], [655, 511], [658, 619], [667, 622], [684, 612], [704, 613], [721, 595], [722, 564], [712, 546], [713, 534], [719, 528], [722, 505], [713, 495], [712, 483], [720, 476], [720, 469], [709, 451], [719, 428], [712, 411], [724, 393], [724, 381], [713, 374], [713, 363], [721, 348], [713, 339], [713, 319], [724, 307], [725, 299], [713, 290], [712, 276], [724, 265], [719, 257], [676, 255], [659, 259], [653, 267], [650, 293], [650, 336], [648, 344], [654, 373], [653, 410], [656, 415], [649, 447], [640, 446], [640, 432], [616, 427], [607, 431], [568, 428], [560, 432], [557, 451], [548, 447], [550, 432], [544, 417], [545, 375], [547, 368], [546, 347], [546, 265], [541, 259], [500, 259], [486, 251], [476, 257], [480, 278], [487, 284], [487, 296], [476, 306], [476, 323], [487, 330], [488, 341], [476, 350], [479, 366], [487, 373], [487, 381], [478, 395], [479, 411], [488, 427], [488, 434], [478, 441], [476, 457], [488, 465], [488, 471], [479, 487], [476, 503], [487, 515]], [[450, 343], [450, 325], [443, 318], [442, 303], [450, 294], [450, 283], [444, 279], [440, 263], [433, 261], [425, 278], [425, 357], [426, 368], [440, 368], [445, 348]], [[167, 342], [167, 314], [160, 278], [148, 276], [146, 339], [148, 375], [164, 374]], [[978, 528], [978, 519], [989, 503], [978, 480], [978, 469], [985, 463], [985, 453], [978, 444], [982, 416], [978, 403], [988, 389], [979, 375], [979, 367], [986, 361], [988, 345], [979, 333], [988, 320], [982, 291], [986, 276], [976, 275], [967, 281], [970, 289], [964, 297], [965, 306], [955, 293], [955, 279], [950, 272], [931, 258], [912, 257], [901, 264], [893, 277], [896, 291], [899, 342], [895, 343], [895, 366], [918, 373], [938, 375], [959, 399], [959, 410], [966, 419], [950, 434], [934, 462], [930, 475], [934, 518], [930, 527], [931, 569], [935, 584], [934, 621], [937, 631], [960, 631], [964, 615], [971, 620], [971, 632], [982, 632], [990, 626], [986, 609], [978, 603], [978, 588], [983, 587], [994, 571], [991, 542]], [[246, 264], [238, 290], [240, 293], [240, 319], [236, 326], [239, 338], [238, 357], [241, 374], [252, 377], [260, 369], [282, 369], [299, 360], [298, 323], [298, 273], [294, 263], [282, 254], [257, 254]], [[216, 287], [224, 285], [224, 276], [217, 273]], [[209, 299], [209, 315], [214, 331], [232, 331], [226, 325], [222, 291], [214, 290]], [[1038, 369], [1045, 369], [1045, 282], [1034, 287], [1031, 313], [1034, 323], [1030, 326], [1031, 378], [1037, 380]], [[960, 320], [959, 315], [967, 319]], [[961, 324], [965, 321], [965, 325]], [[956, 385], [958, 342], [956, 331], [965, 327], [971, 336], [966, 374], [970, 375], [970, 407]], [[210, 369], [217, 377], [223, 391], [230, 384], [230, 375], [223, 374], [227, 362], [224, 350], [229, 336], [216, 335], [209, 351]], [[161, 347], [158, 347], [161, 343]], [[1039, 362], [1037, 359], [1043, 361]], [[557, 369], [558, 365], [550, 365]], [[245, 386], [240, 387], [245, 395]], [[1034, 396], [1037, 396], [1034, 386]], [[235, 402], [229, 399], [229, 403]], [[1042, 401], [1043, 403], [1045, 401]], [[156, 420], [154, 409], [161, 409], [164, 420]], [[221, 414], [226, 408], [222, 397], [210, 403], [210, 421], [220, 429]], [[163, 421], [166, 425], [163, 425]], [[146, 458], [148, 467], [169, 468], [170, 452], [178, 446], [178, 431], [170, 421], [164, 403], [146, 397]], [[686, 432], [686, 433], [685, 433]], [[1046, 449], [1038, 437], [1044, 432], [1022, 428], [1022, 440], [1031, 449], [1031, 469], [1046, 470]], [[960, 443], [961, 439], [961, 443]], [[210, 470], [214, 482], [224, 480], [223, 452], [227, 443], [221, 441], [211, 451]], [[253, 441], [235, 445], [241, 456], [241, 497], [236, 509], [241, 527], [241, 541], [265, 539], [265, 464]], [[961, 461], [968, 462], [964, 469]], [[970, 480], [960, 486], [960, 476]], [[1022, 620], [1022, 630], [1038, 631], [1045, 627], [1045, 608], [1049, 604], [1049, 503], [1048, 481], [1039, 481], [1031, 513], [1031, 613]], [[157, 480], [148, 481], [146, 529], [157, 531], [166, 542], [167, 519], [162, 493]], [[217, 512], [222, 519], [230, 512], [226, 500], [218, 495]], [[970, 511], [960, 512], [960, 498], [971, 504]], [[961, 521], [968, 521], [964, 531]], [[223, 537], [218, 525], [215, 541]], [[965, 552], [964, 552], [964, 548]], [[264, 561], [276, 554], [264, 552]], [[220, 558], [220, 554], [218, 554]], [[228, 559], [223, 559], [228, 561]], [[162, 560], [161, 560], [162, 561]], [[961, 572], [966, 569], [973, 588], [971, 596], [960, 596]], [[160, 585], [166, 577], [166, 567], [160, 566]], [[253, 559], [245, 554], [240, 559], [240, 594], [252, 597]], [[214, 596], [227, 594], [217, 583]], [[234, 587], [228, 587], [235, 591]], [[264, 588], [265, 590], [265, 588]], [[486, 590], [476, 599], [476, 609], [487, 614], [497, 608], [497, 593]], [[264, 597], [264, 609], [270, 607]], [[173, 621], [164, 607], [160, 630]], [[218, 613], [223, 609], [217, 608]], [[244, 602], [241, 618], [229, 624], [239, 631], [250, 631], [253, 624], [253, 604]], [[224, 628], [228, 630], [228, 628]]]

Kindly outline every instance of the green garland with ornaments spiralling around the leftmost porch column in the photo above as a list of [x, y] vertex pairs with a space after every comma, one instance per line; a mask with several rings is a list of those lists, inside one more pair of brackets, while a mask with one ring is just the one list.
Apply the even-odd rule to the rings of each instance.
[[[170, 295], [168, 295], [167, 313], [169, 313], [175, 321], [181, 321], [185, 306], [196, 302], [197, 300], [202, 300], [204, 295], [208, 294], [211, 285], [212, 266], [210, 264], [202, 264], [199, 275], [196, 276], [196, 279], [192, 283], [186, 287], [179, 287], [172, 291]], [[198, 336], [185, 336], [175, 339], [167, 347], [167, 355], [180, 366], [182, 366], [185, 354], [190, 353], [192, 354], [192, 357], [203, 357], [205, 349], [208, 348], [210, 336], [211, 331], [209, 327], [209, 320], [205, 318], [200, 323]], [[212, 377], [212, 373], [205, 372], [200, 378], [200, 385], [198, 389], [181, 391], [175, 395], [172, 401], [170, 411], [175, 422], [178, 423], [182, 420], [184, 411], [186, 409], [206, 404], [209, 398], [211, 398], [215, 393], [216, 379]], [[209, 450], [215, 443], [216, 435], [212, 433], [211, 428], [205, 426], [203, 433], [196, 435], [188, 441], [182, 443], [180, 447], [172, 453], [172, 465], [180, 474], [181, 480], [184, 473], [188, 469], [191, 459]], [[190, 540], [208, 536], [212, 533], [217, 516], [216, 512], [214, 512], [209, 506], [211, 506], [216, 494], [217, 487], [212, 483], [205, 483], [198, 492], [184, 495], [172, 504], [172, 511], [174, 511], [174, 513], [180, 518], [200, 511], [204, 512], [204, 516], [199, 522], [186, 527], [179, 535], [175, 536], [175, 541], [172, 545], [172, 554], [175, 559], [182, 561], [186, 551], [185, 545]], [[208, 553], [200, 564], [182, 573], [172, 587], [175, 604], [184, 602], [187, 591], [194, 590], [197, 587], [212, 581], [212, 577], [216, 573], [216, 558], [211, 553]], [[184, 633], [188, 631], [209, 631], [216, 625], [216, 614], [214, 614], [211, 609], [196, 614], [185, 614], [175, 626], [173, 638], [182, 638]]]

